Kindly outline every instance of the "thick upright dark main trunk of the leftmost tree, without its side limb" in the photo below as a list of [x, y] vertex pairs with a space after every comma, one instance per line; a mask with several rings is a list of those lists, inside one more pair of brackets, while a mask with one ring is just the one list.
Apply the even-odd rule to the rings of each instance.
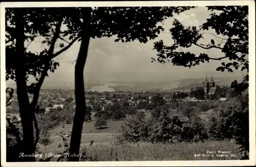
[[[25, 69], [25, 34], [24, 34], [24, 9], [15, 9], [16, 24], [16, 85], [17, 99], [19, 104], [19, 113], [22, 120], [23, 143], [22, 152], [26, 155], [35, 153], [34, 131], [33, 131], [33, 110], [30, 108], [29, 98], [26, 86], [26, 69]], [[21, 161], [35, 161], [34, 157], [22, 157]]]

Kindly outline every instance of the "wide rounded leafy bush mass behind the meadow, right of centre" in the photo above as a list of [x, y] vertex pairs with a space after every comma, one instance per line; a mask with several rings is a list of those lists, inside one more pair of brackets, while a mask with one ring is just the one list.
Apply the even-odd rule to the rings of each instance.
[[153, 113], [155, 116], [151, 119], [146, 119], [144, 112], [127, 119], [115, 136], [118, 142], [195, 142], [207, 139], [205, 123], [197, 115], [188, 120], [175, 110], [166, 111], [160, 107]]

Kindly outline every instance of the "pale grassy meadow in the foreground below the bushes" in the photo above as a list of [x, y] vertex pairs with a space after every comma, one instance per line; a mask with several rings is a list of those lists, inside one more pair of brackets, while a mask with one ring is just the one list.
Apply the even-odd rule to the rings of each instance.
[[[201, 114], [202, 118], [207, 118], [207, 115], [212, 112], [208, 111]], [[146, 117], [151, 115], [146, 112]], [[94, 127], [95, 118], [92, 116], [92, 121], [84, 123], [82, 130], [81, 151], [86, 151], [87, 155], [97, 157], [99, 161], [131, 161], [131, 160], [236, 160], [241, 156], [238, 151], [238, 146], [233, 141], [205, 141], [197, 143], [182, 143], [182, 144], [129, 144], [129, 145], [112, 145], [114, 142], [114, 133], [120, 127], [124, 120], [108, 121], [108, 128], [98, 130]], [[42, 153], [59, 153], [63, 152], [63, 148], [58, 148], [62, 143], [59, 136], [60, 132], [69, 134], [72, 130], [72, 125], [65, 127], [56, 127], [51, 131], [53, 143], [46, 148], [39, 146]], [[90, 146], [90, 142], [93, 145]], [[69, 142], [69, 141], [68, 141]], [[204, 157], [206, 151], [216, 151], [214, 156]], [[227, 157], [217, 157], [218, 151], [230, 151], [226, 154]], [[195, 157], [199, 154], [199, 157]], [[231, 154], [234, 156], [231, 157]], [[54, 160], [54, 159], [52, 159]]]

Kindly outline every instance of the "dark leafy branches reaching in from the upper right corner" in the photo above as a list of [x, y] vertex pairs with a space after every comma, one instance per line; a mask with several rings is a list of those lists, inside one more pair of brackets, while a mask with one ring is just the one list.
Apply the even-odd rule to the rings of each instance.
[[[246, 69], [248, 73], [248, 6], [210, 6], [207, 8], [212, 13], [199, 30], [194, 26], [184, 27], [179, 20], [175, 19], [174, 27], [169, 29], [174, 44], [166, 46], [162, 40], [155, 42], [154, 49], [158, 52], [158, 58], [157, 60], [152, 58], [153, 61], [172, 62], [174, 65], [190, 68], [204, 62], [229, 59], [228, 63], [222, 62], [216, 70], [227, 70], [232, 73], [234, 69], [240, 68], [242, 71]], [[215, 39], [211, 39], [206, 45], [200, 43], [199, 40], [202, 40], [205, 34], [209, 34], [207, 33], [209, 29], [215, 31], [215, 33], [210, 33]], [[219, 49], [224, 56], [213, 58], [206, 53], [195, 55], [190, 52], [177, 51], [180, 47], [191, 46], [205, 50]], [[239, 85], [242, 91], [248, 88], [248, 80], [249, 75], [246, 75]]]

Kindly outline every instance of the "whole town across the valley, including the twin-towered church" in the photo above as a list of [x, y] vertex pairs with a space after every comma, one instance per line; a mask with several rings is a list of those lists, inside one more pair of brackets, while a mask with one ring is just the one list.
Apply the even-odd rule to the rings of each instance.
[[[230, 94], [229, 94], [230, 93]], [[190, 93], [187, 92], [154, 92], [154, 91], [114, 91], [114, 92], [97, 92], [86, 91], [86, 105], [90, 112], [107, 110], [114, 103], [129, 104], [136, 109], [150, 109], [152, 100], [155, 96], [160, 96], [165, 104], [182, 103], [186, 101], [224, 101], [230, 95], [233, 96], [234, 90], [230, 86], [219, 87], [215, 85], [214, 79], [211, 77], [210, 82], [205, 79], [202, 87], [191, 89]], [[189, 95], [188, 95], [189, 94]], [[29, 96], [32, 102], [32, 95]], [[11, 105], [7, 106], [7, 113], [17, 112], [17, 98], [13, 97], [10, 102]], [[41, 96], [38, 98], [38, 112], [49, 113], [51, 110], [60, 108], [75, 108], [75, 94], [74, 90], [61, 90], [61, 89], [42, 89]], [[17, 115], [16, 115], [17, 116]], [[19, 116], [17, 116], [18, 119]]]

